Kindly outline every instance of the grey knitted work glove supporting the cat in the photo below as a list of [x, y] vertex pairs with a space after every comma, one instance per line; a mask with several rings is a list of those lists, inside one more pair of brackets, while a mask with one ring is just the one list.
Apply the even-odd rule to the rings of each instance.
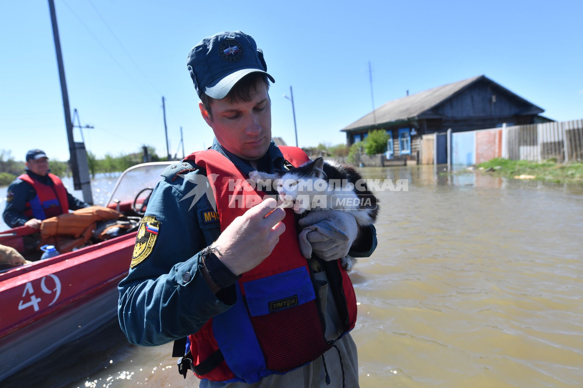
[[325, 261], [345, 257], [359, 231], [354, 216], [339, 210], [312, 211], [299, 224], [300, 250], [307, 259], [312, 252]]

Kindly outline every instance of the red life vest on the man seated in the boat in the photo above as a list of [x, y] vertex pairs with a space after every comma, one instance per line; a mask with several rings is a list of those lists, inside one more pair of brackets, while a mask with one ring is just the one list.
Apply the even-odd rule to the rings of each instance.
[[67, 191], [61, 179], [51, 173], [47, 176], [52, 180], [52, 186], [40, 183], [28, 174], [23, 174], [18, 179], [25, 181], [34, 187], [37, 195], [29, 202], [26, 202], [24, 215], [30, 218], [44, 220], [62, 213], [69, 212], [69, 200]]

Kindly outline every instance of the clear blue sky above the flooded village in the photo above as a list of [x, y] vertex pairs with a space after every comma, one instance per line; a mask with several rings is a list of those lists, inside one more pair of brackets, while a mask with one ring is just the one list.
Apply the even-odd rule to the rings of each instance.
[[[292, 145], [290, 85], [300, 146], [343, 143], [339, 130], [371, 111], [368, 60], [377, 107], [485, 74], [549, 118], [583, 118], [582, 1], [91, 1], [133, 59], [89, 0], [55, 0], [71, 110], [95, 126], [85, 138], [98, 156], [143, 143], [164, 155], [162, 95], [171, 153], [180, 126], [187, 154], [208, 147], [185, 62], [224, 30], [264, 49], [272, 133]], [[1, 2], [0, 36], [0, 149], [68, 159], [47, 1]]]

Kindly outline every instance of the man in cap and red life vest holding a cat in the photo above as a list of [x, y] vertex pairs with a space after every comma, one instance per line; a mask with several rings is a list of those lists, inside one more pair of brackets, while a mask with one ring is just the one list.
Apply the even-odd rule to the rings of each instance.
[[[352, 215], [333, 210], [306, 216], [300, 227], [322, 222], [336, 232], [308, 234], [315, 255], [307, 262], [291, 209], [272, 212], [271, 198], [233, 207], [229, 179], [308, 159], [271, 141], [268, 90], [275, 80], [249, 35], [205, 38], [189, 53], [188, 70], [215, 141], [169, 166], [154, 188], [119, 285], [122, 330], [142, 346], [176, 340], [173, 355], [186, 353], [181, 373], [192, 369], [200, 387], [319, 387], [330, 380], [358, 386], [356, 346], [347, 333], [356, 300], [337, 259], [349, 250], [370, 255], [374, 227], [357, 231]], [[192, 195], [203, 176], [213, 186], [210, 200]]]

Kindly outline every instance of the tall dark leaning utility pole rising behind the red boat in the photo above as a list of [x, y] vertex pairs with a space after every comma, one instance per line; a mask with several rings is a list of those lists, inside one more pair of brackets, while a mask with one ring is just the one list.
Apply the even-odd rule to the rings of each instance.
[[[89, 169], [87, 168], [87, 155], [85, 144], [75, 143], [73, 138], [73, 123], [71, 122], [71, 108], [69, 107], [69, 94], [67, 92], [67, 83], [65, 80], [65, 66], [63, 64], [63, 55], [61, 52], [61, 40], [59, 39], [59, 27], [57, 26], [57, 12], [55, 3], [48, 0], [48, 8], [51, 14], [52, 37], [55, 41], [55, 54], [57, 54], [57, 66], [59, 68], [59, 80], [61, 81], [61, 95], [63, 97], [63, 110], [65, 112], [65, 127], [67, 131], [67, 140], [69, 142], [69, 161], [71, 162], [71, 171], [73, 173], [73, 187], [75, 190], [83, 190], [83, 200], [88, 204], [93, 204], [93, 195], [91, 193], [91, 182], [89, 180]], [[79, 160], [77, 151], [85, 155], [83, 163], [83, 177], [79, 174]], [[83, 178], [83, 179], [82, 179]]]

